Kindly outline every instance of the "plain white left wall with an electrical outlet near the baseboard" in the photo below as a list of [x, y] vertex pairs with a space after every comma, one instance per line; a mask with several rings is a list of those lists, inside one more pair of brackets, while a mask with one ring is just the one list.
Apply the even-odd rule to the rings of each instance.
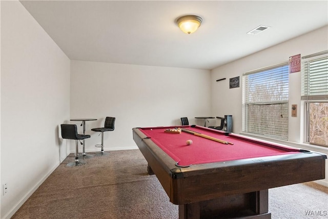
[[70, 60], [18, 1], [1, 1], [1, 218], [67, 156]]

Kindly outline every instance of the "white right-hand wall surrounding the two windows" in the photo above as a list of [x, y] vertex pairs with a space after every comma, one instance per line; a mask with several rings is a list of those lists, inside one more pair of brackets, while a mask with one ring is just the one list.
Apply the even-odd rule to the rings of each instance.
[[[256, 35], [255, 35], [256, 37]], [[233, 131], [241, 131], [241, 98], [242, 98], [242, 74], [247, 71], [269, 67], [283, 62], [288, 62], [292, 55], [301, 54], [301, 56], [310, 55], [328, 49], [328, 26], [320, 28], [308, 34], [301, 35], [279, 45], [262, 50], [255, 54], [241, 58], [235, 62], [220, 66], [211, 72], [212, 83], [212, 113], [222, 116], [226, 114], [233, 115]], [[229, 89], [229, 78], [239, 76], [240, 87]], [[216, 82], [216, 79], [224, 78], [224, 81]], [[289, 81], [289, 142], [303, 143], [303, 127], [301, 126], [301, 73], [290, 74]], [[297, 104], [297, 117], [291, 116], [292, 104]], [[294, 144], [293, 146], [319, 152], [328, 152], [327, 148]], [[327, 164], [328, 162], [326, 162]], [[326, 176], [328, 176], [328, 166], [326, 165]], [[326, 177], [327, 178], [327, 177]], [[321, 182], [322, 183], [322, 182]], [[327, 181], [323, 182], [328, 186]]]

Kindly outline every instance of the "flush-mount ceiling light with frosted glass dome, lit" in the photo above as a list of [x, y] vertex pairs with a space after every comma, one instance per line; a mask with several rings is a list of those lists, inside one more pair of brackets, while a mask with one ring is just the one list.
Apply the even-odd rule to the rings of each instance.
[[185, 15], [176, 19], [176, 24], [179, 28], [188, 34], [195, 32], [201, 25], [203, 19], [197, 15]]

